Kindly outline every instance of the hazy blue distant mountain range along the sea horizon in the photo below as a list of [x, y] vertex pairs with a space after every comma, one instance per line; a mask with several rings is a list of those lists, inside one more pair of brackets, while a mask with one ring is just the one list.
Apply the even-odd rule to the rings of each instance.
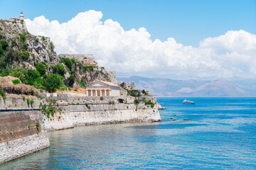
[[[137, 89], [151, 91], [154, 96], [254, 97], [256, 86], [235, 84], [225, 79], [174, 80], [137, 76], [119, 76], [118, 81], [135, 81]], [[241, 81], [242, 82], [242, 81]]]

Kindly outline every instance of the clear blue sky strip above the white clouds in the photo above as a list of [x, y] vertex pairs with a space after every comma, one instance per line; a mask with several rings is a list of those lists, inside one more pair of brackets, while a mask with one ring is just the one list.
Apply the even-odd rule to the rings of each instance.
[[102, 11], [103, 21], [112, 18], [124, 30], [144, 27], [152, 40], [172, 37], [193, 47], [204, 38], [223, 35], [228, 30], [256, 33], [255, 0], [0, 0], [0, 6], [0, 18], [17, 17], [23, 11], [31, 20], [43, 15], [60, 23], [93, 9]]

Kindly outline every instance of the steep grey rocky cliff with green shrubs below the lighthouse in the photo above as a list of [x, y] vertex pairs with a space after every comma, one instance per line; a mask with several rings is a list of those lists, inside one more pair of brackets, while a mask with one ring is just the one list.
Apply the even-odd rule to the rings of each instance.
[[[83, 63], [68, 55], [67, 57], [58, 56], [54, 52], [54, 45], [50, 42], [50, 38], [31, 35], [24, 21], [0, 20], [1, 75], [11, 74], [13, 69], [26, 68], [40, 72], [42, 79], [44, 74], [60, 74], [65, 86], [75, 86], [75, 89], [78, 86], [85, 87], [86, 84], [95, 80], [117, 84], [115, 72], [107, 72], [104, 67], [98, 67], [97, 64], [91, 65], [91, 63]], [[26, 81], [23, 83], [29, 84]], [[36, 85], [44, 90], [43, 86], [40, 87], [40, 83], [37, 82]]]

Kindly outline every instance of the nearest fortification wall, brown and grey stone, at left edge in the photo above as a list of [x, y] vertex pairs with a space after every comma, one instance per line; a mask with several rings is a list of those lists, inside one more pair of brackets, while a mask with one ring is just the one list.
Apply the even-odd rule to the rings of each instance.
[[34, 96], [0, 99], [0, 164], [50, 147], [38, 106]]

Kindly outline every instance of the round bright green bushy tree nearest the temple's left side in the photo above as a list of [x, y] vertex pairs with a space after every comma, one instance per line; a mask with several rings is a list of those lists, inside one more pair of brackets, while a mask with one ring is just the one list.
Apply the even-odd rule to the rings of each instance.
[[43, 85], [46, 87], [46, 90], [49, 92], [54, 92], [56, 89], [59, 89], [63, 84], [63, 81], [58, 74], [50, 74], [43, 82]]

